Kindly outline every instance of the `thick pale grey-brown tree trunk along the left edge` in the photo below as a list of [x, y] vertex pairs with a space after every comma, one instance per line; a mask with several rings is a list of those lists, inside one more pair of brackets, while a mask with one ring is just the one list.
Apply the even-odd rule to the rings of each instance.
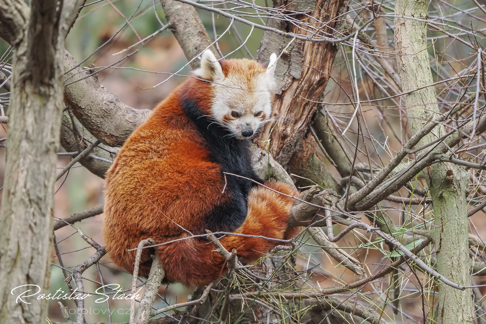
[[[46, 299], [14, 296], [49, 290], [64, 38], [79, 2], [33, 0], [29, 13], [23, 1], [0, 1], [0, 18], [17, 35], [0, 211], [1, 323], [42, 323], [47, 315]], [[22, 285], [31, 286], [12, 296]]]

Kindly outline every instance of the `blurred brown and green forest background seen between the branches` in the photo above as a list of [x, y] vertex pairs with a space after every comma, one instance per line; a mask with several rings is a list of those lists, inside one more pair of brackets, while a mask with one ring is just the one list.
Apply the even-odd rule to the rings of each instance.
[[[262, 6], [268, 6], [266, 0], [258, 0], [256, 3]], [[383, 3], [390, 5], [393, 1], [384, 1]], [[361, 2], [351, 1], [351, 6], [356, 6], [356, 8], [362, 4]], [[87, 3], [85, 8], [80, 12], [76, 23], [67, 37], [66, 49], [73, 55], [76, 61], [80, 62], [109, 39], [125, 22], [124, 17], [129, 17], [137, 6], [139, 6], [139, 0], [101, 0], [95, 1], [92, 4]], [[154, 6], [156, 13], [154, 12]], [[228, 27], [228, 19], [226, 17], [218, 17], [215, 15], [213, 18], [211, 13], [204, 10], [198, 10], [198, 13], [207, 28], [208, 34], [213, 40], [212, 19], [215, 21], [217, 34], [223, 34]], [[158, 1], [143, 0], [139, 11], [130, 21], [131, 26], [127, 26], [109, 45], [89, 58], [83, 66], [91, 67], [91, 65], [94, 65], [95, 67], [104, 67], [118, 61], [126, 53], [113, 55], [114, 53], [126, 49], [140, 39], [160, 29], [161, 25], [156, 15], [158, 15], [162, 23], [166, 23], [160, 3]], [[486, 15], [470, 0], [431, 0], [429, 15], [431, 20], [434, 19], [437, 22], [444, 23], [445, 25], [442, 26], [444, 29], [447, 29], [447, 24], [452, 24], [451, 21], [454, 21], [453, 25], [455, 29], [464, 28], [479, 31], [474, 36], [475, 38], [467, 33], [461, 34], [461, 37], [464, 37], [471, 43], [485, 44], [484, 37], [486, 34], [483, 31], [486, 31]], [[252, 17], [248, 17], [248, 19], [252, 21], [259, 20], [258, 18]], [[263, 18], [263, 21], [265, 20], [266, 18]], [[387, 44], [389, 49], [384, 51], [393, 52], [393, 17], [388, 17], [384, 21], [387, 25], [386, 30], [389, 39], [389, 44]], [[259, 22], [262, 23], [262, 21]], [[250, 31], [250, 27], [239, 22], [235, 22], [234, 24], [239, 34], [245, 38]], [[373, 25], [368, 26], [364, 31], [373, 36]], [[262, 34], [263, 32], [260, 29], [255, 29], [246, 42], [246, 46], [252, 55], [256, 54]], [[428, 39], [429, 47], [427, 51], [430, 54], [434, 81], [451, 78], [452, 75], [456, 75], [459, 71], [471, 67], [476, 60], [477, 53], [475, 51], [459, 42], [451, 45], [451, 38], [444, 37], [442, 33], [429, 30]], [[219, 41], [219, 47], [223, 54], [233, 51], [239, 45], [240, 43], [232, 30], [223, 35]], [[5, 52], [7, 49], [8, 44], [0, 39], [0, 53]], [[386, 60], [390, 65], [396, 66], [395, 58], [392, 54], [384, 54], [383, 56], [389, 56]], [[351, 105], [339, 105], [339, 103], [353, 101], [349, 97], [353, 90], [346, 69], [346, 60], [343, 55], [347, 55], [348, 59], [350, 59], [352, 56], [351, 50], [346, 48], [338, 51], [332, 76], [323, 98], [324, 102], [337, 103], [337, 105], [326, 105], [326, 109], [332, 116], [336, 117], [334, 123], [339, 125], [341, 130], [347, 126], [354, 110]], [[373, 70], [373, 64], [369, 63], [370, 54], [358, 51], [356, 55], [360, 56], [360, 60], [356, 63], [356, 69], [358, 69], [357, 83], [360, 89], [359, 97], [362, 100], [383, 98], [388, 93], [391, 95], [400, 93], [393, 86], [387, 86], [386, 82], [382, 82], [386, 78], [378, 75], [379, 73]], [[229, 57], [239, 58], [248, 56], [248, 53], [241, 48]], [[366, 62], [369, 64], [366, 64]], [[109, 92], [119, 96], [122, 102], [138, 109], [152, 109], [184, 80], [184, 75], [190, 72], [189, 67], [183, 68], [186, 63], [187, 59], [173, 34], [170, 30], [166, 30], [150, 39], [136, 54], [115, 65], [118, 68], [108, 68], [101, 71], [98, 74], [98, 80]], [[361, 66], [358, 66], [358, 63]], [[368, 72], [364, 73], [366, 70]], [[177, 73], [181, 76], [174, 76], [163, 82], [171, 73]], [[373, 76], [376, 77], [376, 80], [373, 80]], [[378, 86], [380, 83], [382, 84], [382, 88]], [[451, 87], [450, 85], [448, 86], [448, 90], [450, 90]], [[461, 91], [461, 89], [461, 85], [456, 85], [457, 91]], [[442, 91], [445, 91], [444, 87], [437, 85], [437, 94], [441, 94]], [[5, 90], [0, 89], [0, 97], [2, 92], [5, 92]], [[440, 104], [441, 102], [439, 101], [439, 106]], [[370, 158], [378, 161], [378, 164], [386, 163], [393, 154], [392, 152], [401, 148], [401, 143], [409, 137], [409, 133], [406, 118], [402, 115], [398, 107], [399, 102], [394, 99], [363, 104], [363, 116], [369, 131], [369, 141], [367, 142], [367, 146], [360, 145], [359, 149], [362, 152], [358, 153], [357, 162], [367, 163], [368, 158], [364, 153], [369, 152]], [[8, 109], [8, 106], [5, 109]], [[8, 128], [8, 125], [2, 124], [2, 126], [3, 128], [0, 128], [0, 137], [6, 137], [5, 130]], [[355, 126], [355, 124], [352, 124], [352, 128], [356, 128]], [[356, 135], [355, 133], [349, 132], [347, 136], [348, 142], [346, 145], [354, 152], [352, 143], [356, 142]], [[0, 146], [3, 145], [0, 144]], [[478, 156], [479, 154], [483, 154], [483, 151], [470, 151], [470, 153], [471, 156]], [[329, 170], [336, 177], [339, 176], [339, 173], [318, 148], [317, 156], [326, 163]], [[383, 161], [380, 162], [380, 159], [383, 159]], [[4, 161], [5, 151], [3, 148], [0, 148], [0, 183], [3, 177]], [[59, 156], [57, 167], [58, 169], [62, 169], [68, 163], [69, 156], [61, 155]], [[482, 175], [476, 174], [476, 176], [480, 181], [484, 180]], [[294, 179], [296, 181], [299, 180], [297, 177]], [[417, 179], [416, 181], [425, 188], [425, 181], [423, 179]], [[299, 184], [305, 185], [302, 182], [299, 182]], [[55, 216], [57, 218], [65, 218], [73, 213], [103, 205], [103, 185], [103, 179], [91, 174], [87, 169], [80, 167], [78, 164], [75, 165], [56, 184]], [[486, 194], [486, 188], [480, 186], [480, 183], [477, 183], [477, 186], [472, 189], [473, 192], [470, 197], [474, 194], [476, 194], [476, 197]], [[481, 192], [485, 193], [481, 194]], [[405, 191], [403, 191], [403, 195], [406, 196]], [[411, 222], [417, 224], [417, 222], [427, 222], [430, 220], [429, 214], [431, 211], [425, 205], [415, 205], [412, 211], [407, 209], [408, 206], [404, 207], [398, 203], [387, 202], [387, 204], [382, 203], [381, 207], [387, 209], [387, 215], [396, 224], [405, 225]], [[362, 215], [362, 217], [365, 221], [365, 216]], [[82, 228], [84, 233], [103, 245], [103, 238], [101, 236], [102, 222], [103, 214], [84, 220], [82, 223], [77, 223], [76, 226]], [[480, 237], [486, 237], [486, 219], [483, 211], [470, 217], [469, 222], [470, 233], [474, 233]], [[336, 225], [336, 227], [339, 227], [339, 225]], [[57, 230], [55, 236], [58, 243], [62, 242], [59, 244], [59, 250], [67, 269], [72, 269], [73, 266], [78, 265], [93, 253], [93, 248], [87, 245], [77, 235], [76, 231], [69, 226]], [[337, 244], [340, 247], [346, 248], [347, 253], [352, 254], [360, 260], [368, 268], [366, 271], [372, 273], [380, 266], [382, 259], [388, 252], [386, 251], [386, 246], [383, 247], [382, 242], [370, 242], [374, 242], [371, 234], [356, 230], [354, 231], [354, 236], [349, 235], [341, 239]], [[358, 249], [358, 247], [363, 247], [365, 244], [368, 244], [367, 249]], [[54, 250], [53, 256], [55, 256]], [[59, 263], [57, 258], [53, 257], [52, 262], [51, 292], [53, 293], [59, 288], [67, 291], [63, 273], [58, 267]], [[321, 249], [316, 247], [312, 239], [303, 239], [303, 245], [296, 255], [296, 263], [298, 271], [307, 271], [309, 281], [306, 284], [309, 287], [332, 287], [336, 282], [350, 282], [358, 279], [358, 276], [340, 266], [336, 260], [330, 258]], [[104, 274], [105, 283], [118, 283], [122, 289], [130, 286], [131, 275], [115, 269], [109, 262], [107, 256], [102, 259], [100, 265], [102, 265], [101, 270]], [[88, 280], [85, 280], [86, 291], [94, 291], [99, 287], [97, 283], [89, 281], [99, 280], [95, 267], [89, 268], [84, 273], [84, 277], [88, 278]], [[474, 276], [473, 278], [475, 280], [473, 284], [486, 284], [486, 276]], [[417, 293], [421, 289], [418, 281], [421, 281], [424, 287], [429, 288], [429, 290], [424, 291], [424, 295]], [[393, 293], [393, 291], [390, 292], [388, 289], [389, 286], [389, 278], [384, 277], [365, 286], [360, 291], [360, 298], [362, 300], [368, 299], [370, 305], [379, 308], [382, 307], [382, 312], [387, 314], [384, 317], [393, 323], [422, 323], [422, 303], [424, 301], [421, 297], [425, 298], [425, 304], [427, 305], [433, 305], [434, 302], [435, 290], [430, 278], [418, 272], [417, 276], [404, 275], [401, 278], [401, 298], [397, 314], [392, 312], [389, 304], [391, 298], [389, 294]], [[187, 301], [192, 291], [192, 288], [185, 288], [178, 284], [173, 284], [168, 287], [162, 286], [159, 290], [171, 304]], [[481, 293], [483, 295], [486, 294], [485, 287], [481, 288]], [[103, 314], [103, 310], [106, 311], [105, 305], [96, 304], [94, 300], [95, 298], [86, 299], [85, 308], [89, 310], [86, 315], [88, 323], [107, 322], [108, 316]], [[71, 319], [74, 319], [75, 316], [73, 314], [76, 309], [74, 303], [71, 301], [63, 301], [63, 303], [68, 307], [68, 311], [72, 309]], [[113, 311], [113, 323], [128, 321], [129, 315], [127, 310], [129, 308], [129, 301], [112, 300], [110, 298], [110, 306]], [[161, 300], [157, 300], [154, 306], [160, 308], [164, 306], [164, 303]], [[63, 320], [61, 310], [55, 301], [50, 302], [49, 318], [53, 322]]]

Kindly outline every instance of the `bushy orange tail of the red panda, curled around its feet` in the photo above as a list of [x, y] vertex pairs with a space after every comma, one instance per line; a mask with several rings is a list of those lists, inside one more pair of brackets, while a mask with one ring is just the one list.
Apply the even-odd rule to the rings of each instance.
[[[281, 182], [269, 182], [266, 186], [290, 196], [298, 196], [295, 189]], [[234, 233], [289, 239], [298, 233], [298, 228], [287, 230], [287, 219], [293, 204], [294, 199], [290, 197], [264, 187], [254, 188], [248, 195], [246, 219]], [[239, 235], [226, 235], [220, 242], [228, 251], [236, 249], [238, 256], [246, 262], [257, 260], [281, 244], [277, 240]], [[160, 245], [156, 250], [166, 272], [166, 278], [171, 282], [204, 287], [227, 271], [226, 260], [219, 253], [212, 252], [214, 247], [209, 241], [197, 238], [183, 239]]]

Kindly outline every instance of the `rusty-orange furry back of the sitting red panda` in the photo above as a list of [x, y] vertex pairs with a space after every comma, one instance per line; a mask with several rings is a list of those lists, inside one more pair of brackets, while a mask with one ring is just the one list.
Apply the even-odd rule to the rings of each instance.
[[[131, 272], [135, 251], [127, 250], [140, 240], [160, 243], [203, 226], [200, 216], [210, 202], [224, 199], [220, 178], [173, 94], [130, 136], [106, 173], [103, 235], [112, 261]], [[149, 258], [142, 254], [142, 261]]]

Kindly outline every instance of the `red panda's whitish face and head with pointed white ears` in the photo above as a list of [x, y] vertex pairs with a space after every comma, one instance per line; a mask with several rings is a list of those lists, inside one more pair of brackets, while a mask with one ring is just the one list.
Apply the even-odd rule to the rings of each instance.
[[194, 74], [211, 82], [211, 117], [236, 138], [256, 134], [272, 113], [277, 55], [262, 66], [249, 59], [218, 61], [206, 50]]

